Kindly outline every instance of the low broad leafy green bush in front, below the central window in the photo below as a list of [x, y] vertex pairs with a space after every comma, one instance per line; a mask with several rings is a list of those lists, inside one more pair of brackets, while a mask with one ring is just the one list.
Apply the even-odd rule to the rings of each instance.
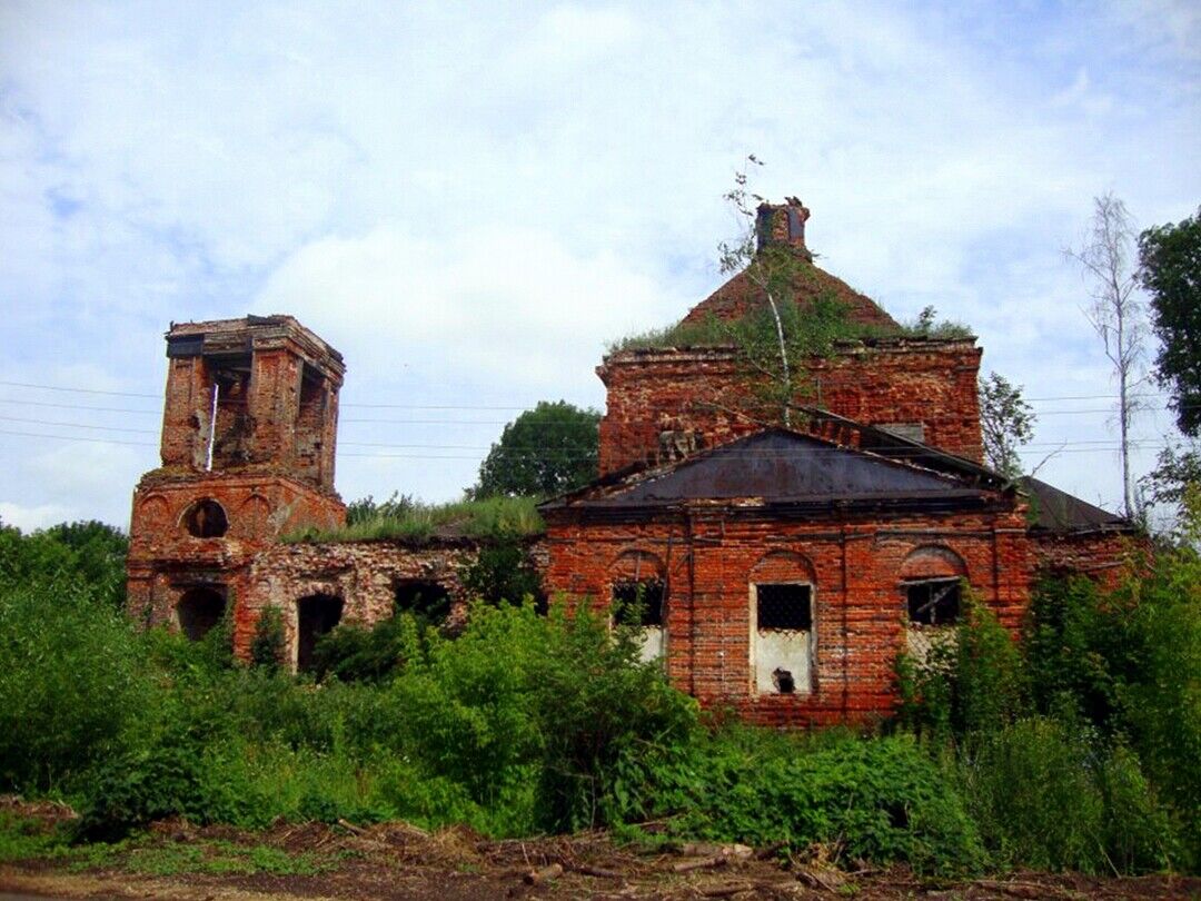
[[951, 774], [907, 736], [809, 738], [727, 727], [669, 793], [673, 831], [752, 846], [825, 846], [842, 861], [963, 873], [986, 861]]

